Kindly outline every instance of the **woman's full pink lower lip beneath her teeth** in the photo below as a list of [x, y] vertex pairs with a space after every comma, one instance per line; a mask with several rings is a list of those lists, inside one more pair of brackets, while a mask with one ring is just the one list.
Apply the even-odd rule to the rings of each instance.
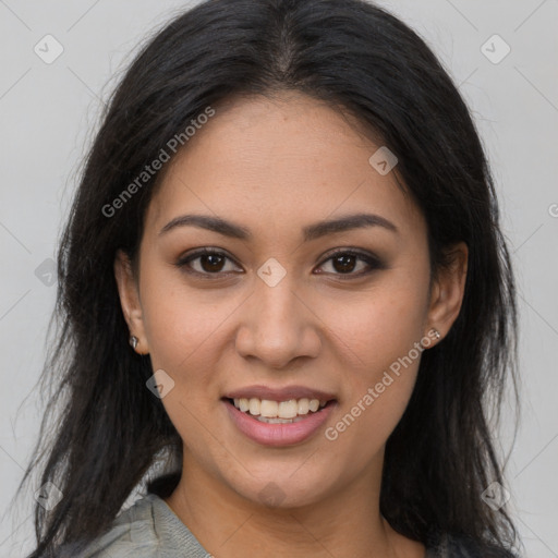
[[232, 422], [242, 434], [258, 444], [274, 447], [291, 446], [307, 440], [328, 420], [336, 407], [335, 402], [330, 402], [322, 411], [308, 413], [306, 418], [296, 423], [269, 424], [240, 411], [228, 400], [223, 402]]

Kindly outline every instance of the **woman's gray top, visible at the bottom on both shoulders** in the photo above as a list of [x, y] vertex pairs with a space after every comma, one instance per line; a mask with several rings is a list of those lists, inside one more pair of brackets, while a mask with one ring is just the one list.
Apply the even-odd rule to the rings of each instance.
[[[481, 556], [468, 547], [444, 536], [426, 548], [425, 558]], [[150, 493], [117, 515], [110, 530], [84, 550], [65, 547], [60, 553], [60, 558], [211, 558], [165, 500]]]

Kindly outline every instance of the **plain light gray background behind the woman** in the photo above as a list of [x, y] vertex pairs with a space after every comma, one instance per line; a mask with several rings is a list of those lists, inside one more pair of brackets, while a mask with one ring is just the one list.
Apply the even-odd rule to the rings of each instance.
[[[507, 471], [511, 510], [530, 557], [558, 557], [558, 2], [383, 1], [434, 48], [470, 104], [500, 195], [519, 281], [523, 416]], [[155, 0], [0, 0], [1, 204], [0, 556], [31, 547], [32, 495], [10, 507], [41, 404], [40, 373], [56, 286], [48, 263], [101, 99], [151, 29], [189, 5]], [[63, 53], [45, 63], [47, 34]], [[495, 64], [481, 47], [510, 46]], [[493, 41], [494, 43], [494, 41]], [[502, 45], [488, 43], [493, 56]], [[116, 74], [116, 72], [119, 72]], [[46, 266], [41, 277], [35, 270]], [[43, 268], [39, 268], [43, 269]], [[39, 274], [40, 275], [40, 274]], [[509, 448], [507, 415], [501, 433]], [[37, 486], [38, 488], [38, 486]]]

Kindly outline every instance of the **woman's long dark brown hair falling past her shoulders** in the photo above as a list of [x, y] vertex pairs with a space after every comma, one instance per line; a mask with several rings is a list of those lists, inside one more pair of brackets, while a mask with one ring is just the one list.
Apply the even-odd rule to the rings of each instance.
[[[207, 107], [218, 113], [232, 95], [287, 89], [342, 107], [396, 154], [427, 222], [434, 271], [446, 246], [469, 246], [460, 314], [424, 352], [388, 439], [380, 511], [416, 541], [446, 532], [514, 545], [506, 508], [494, 511], [481, 498], [490, 483], [505, 485], [489, 418], [499, 416], [508, 376], [518, 399], [514, 280], [465, 102], [425, 41], [372, 3], [207, 0], [137, 54], [84, 165], [58, 254], [57, 327], [40, 384], [47, 411], [20, 485], [38, 468], [37, 486], [52, 483], [62, 499], [50, 511], [36, 505], [29, 558], [100, 535], [143, 483], [168, 495], [180, 480], [182, 441], [146, 388], [149, 357], [130, 350], [113, 276], [119, 248], [137, 254], [160, 172], [118, 210], [107, 206]], [[155, 463], [172, 474], [154, 481]]]

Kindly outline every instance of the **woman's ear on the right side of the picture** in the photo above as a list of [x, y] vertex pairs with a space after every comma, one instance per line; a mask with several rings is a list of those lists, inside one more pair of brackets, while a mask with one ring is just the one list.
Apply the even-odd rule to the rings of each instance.
[[459, 242], [447, 250], [447, 266], [438, 269], [433, 280], [427, 325], [436, 328], [441, 338], [446, 337], [456, 322], [463, 295], [469, 260], [469, 248]]

